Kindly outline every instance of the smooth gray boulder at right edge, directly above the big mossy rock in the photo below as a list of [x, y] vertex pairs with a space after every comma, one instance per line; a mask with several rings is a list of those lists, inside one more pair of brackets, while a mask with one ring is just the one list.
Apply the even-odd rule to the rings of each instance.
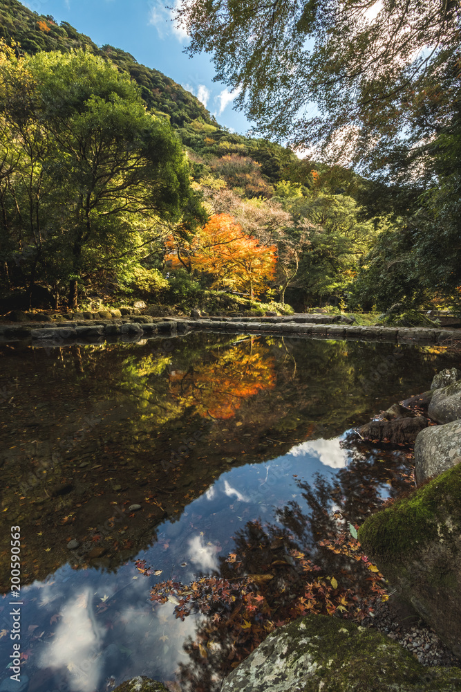
[[461, 421], [422, 430], [415, 442], [417, 484], [461, 462]]

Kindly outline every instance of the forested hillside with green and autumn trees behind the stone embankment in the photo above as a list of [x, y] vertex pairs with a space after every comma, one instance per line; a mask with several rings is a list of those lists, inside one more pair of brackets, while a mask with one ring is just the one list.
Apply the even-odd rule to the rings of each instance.
[[219, 310], [238, 291], [247, 308], [388, 320], [459, 304], [458, 116], [422, 152], [390, 149], [397, 173], [373, 180], [229, 132], [162, 73], [17, 0], [0, 0], [0, 34], [3, 294]]

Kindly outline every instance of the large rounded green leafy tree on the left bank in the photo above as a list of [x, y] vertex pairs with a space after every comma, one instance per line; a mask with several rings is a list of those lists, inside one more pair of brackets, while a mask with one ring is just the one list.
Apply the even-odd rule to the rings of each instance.
[[[34, 207], [37, 263], [67, 278], [70, 307], [79, 278], [152, 242], [161, 221], [203, 219], [179, 140], [112, 64], [83, 51], [39, 53], [10, 60], [3, 83], [3, 118], [37, 178], [34, 190], [18, 190], [19, 210]], [[11, 183], [16, 191], [17, 178]]]

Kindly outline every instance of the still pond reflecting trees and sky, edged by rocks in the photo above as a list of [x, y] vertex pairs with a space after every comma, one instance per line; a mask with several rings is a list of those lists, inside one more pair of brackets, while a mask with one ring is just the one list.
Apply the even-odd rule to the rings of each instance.
[[[218, 689], [279, 623], [296, 561], [315, 559], [330, 585], [350, 578], [346, 557], [319, 547], [335, 512], [359, 524], [411, 485], [407, 449], [352, 428], [452, 365], [430, 347], [229, 334], [0, 355], [0, 655], [12, 652], [14, 525], [29, 692], [104, 691], [135, 675]], [[274, 612], [241, 620], [240, 638], [238, 608], [211, 607], [210, 594], [202, 607], [152, 599], [164, 582], [225, 590], [237, 574], [252, 575], [247, 601], [269, 603], [268, 581], [278, 589]]]

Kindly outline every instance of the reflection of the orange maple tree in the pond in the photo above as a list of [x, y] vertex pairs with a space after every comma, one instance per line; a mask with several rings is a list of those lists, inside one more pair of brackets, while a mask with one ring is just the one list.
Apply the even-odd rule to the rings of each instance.
[[201, 417], [232, 418], [245, 399], [275, 386], [274, 358], [253, 341], [234, 346], [213, 361], [170, 375], [171, 393]]

